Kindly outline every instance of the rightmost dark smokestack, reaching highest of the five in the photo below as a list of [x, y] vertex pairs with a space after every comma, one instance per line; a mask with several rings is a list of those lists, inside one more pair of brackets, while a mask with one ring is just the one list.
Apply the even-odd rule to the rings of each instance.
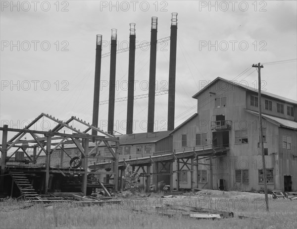
[[168, 84], [168, 124], [167, 130], [174, 129], [175, 111], [175, 72], [176, 72], [176, 41], [177, 41], [177, 13], [171, 13], [169, 84]]

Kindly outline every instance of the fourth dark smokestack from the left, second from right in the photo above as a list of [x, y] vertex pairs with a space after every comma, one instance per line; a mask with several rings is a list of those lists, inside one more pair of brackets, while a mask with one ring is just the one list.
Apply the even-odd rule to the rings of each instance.
[[154, 127], [153, 124], [154, 124], [155, 81], [156, 81], [157, 25], [158, 25], [158, 18], [151, 17], [149, 83], [148, 83], [148, 132], [153, 132], [153, 127]]

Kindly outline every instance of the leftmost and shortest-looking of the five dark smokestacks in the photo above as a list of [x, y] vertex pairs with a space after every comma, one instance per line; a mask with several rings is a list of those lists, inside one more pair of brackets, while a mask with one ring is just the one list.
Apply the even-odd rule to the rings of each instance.
[[[93, 100], [93, 125], [95, 127], [98, 127], [98, 115], [99, 115], [101, 51], [102, 51], [102, 35], [98, 34], [97, 41], [96, 41], [95, 83], [94, 83], [94, 100]], [[97, 135], [97, 131], [92, 130], [92, 135]]]

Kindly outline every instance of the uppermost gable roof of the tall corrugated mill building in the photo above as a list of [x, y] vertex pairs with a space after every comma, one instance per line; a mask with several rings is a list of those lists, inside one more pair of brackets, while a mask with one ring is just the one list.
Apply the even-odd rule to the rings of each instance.
[[[194, 96], [192, 96], [192, 98], [197, 99], [197, 97], [202, 92], [206, 91], [207, 88], [211, 87], [213, 84], [215, 84], [219, 80], [222, 80], [222, 81], [224, 81], [226, 83], [230, 83], [232, 85], [236, 85], [236, 86], [238, 86], [238, 87], [240, 87], [242, 89], [245, 89], [247, 91], [258, 93], [258, 90], [255, 90], [254, 88], [249, 87], [247, 85], [243, 85], [243, 84], [240, 84], [240, 83], [236, 83], [234, 81], [231, 81], [231, 80], [227, 80], [227, 79], [224, 79], [224, 78], [221, 78], [221, 77], [217, 77], [212, 82], [210, 82], [207, 86], [205, 86], [203, 89], [201, 89], [200, 91], [198, 91], [198, 93], [196, 93]], [[282, 101], [285, 101], [285, 102], [288, 102], [288, 103], [292, 103], [292, 104], [297, 105], [297, 101], [296, 100], [291, 100], [291, 99], [288, 99], [288, 98], [285, 98], [285, 97], [282, 97], [282, 96], [279, 96], [279, 95], [275, 95], [275, 94], [272, 94], [272, 93], [269, 93], [269, 92], [266, 92], [266, 91], [261, 91], [261, 95], [265, 95], [267, 97], [271, 97], [271, 98], [274, 98], [274, 99], [282, 100]]]

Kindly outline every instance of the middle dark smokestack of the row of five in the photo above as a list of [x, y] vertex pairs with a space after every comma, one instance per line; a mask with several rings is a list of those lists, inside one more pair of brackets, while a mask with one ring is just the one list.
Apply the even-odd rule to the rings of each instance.
[[127, 134], [132, 134], [133, 132], [135, 39], [136, 39], [135, 23], [130, 23], [128, 102], [127, 102], [127, 128], [126, 128]]

